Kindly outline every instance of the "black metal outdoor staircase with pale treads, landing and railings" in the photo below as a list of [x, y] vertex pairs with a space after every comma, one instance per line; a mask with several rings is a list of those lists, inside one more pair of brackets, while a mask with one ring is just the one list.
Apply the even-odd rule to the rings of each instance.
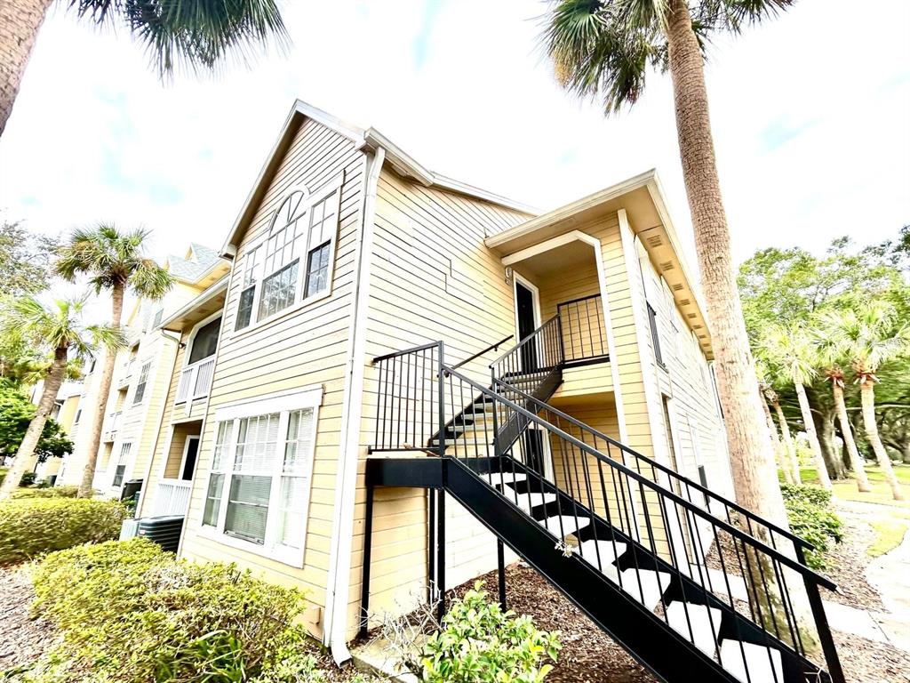
[[[441, 342], [377, 359], [371, 451], [435, 457], [371, 458], [368, 509], [377, 485], [449, 494], [663, 680], [843, 683], [811, 545], [546, 403], [560, 323], [492, 363], [489, 386]], [[369, 543], [365, 565], [366, 614]]]

